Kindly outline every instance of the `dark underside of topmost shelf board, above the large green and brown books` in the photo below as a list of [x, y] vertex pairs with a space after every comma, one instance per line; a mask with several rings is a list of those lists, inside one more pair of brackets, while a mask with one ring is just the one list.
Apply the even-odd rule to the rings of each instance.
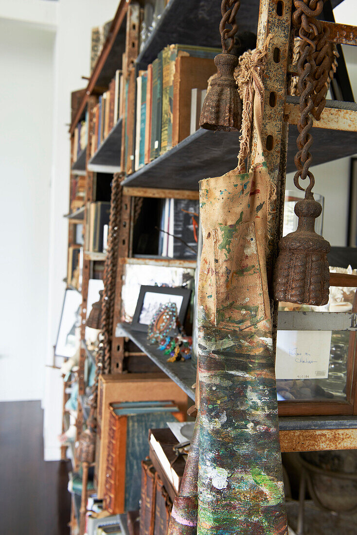
[[[335, 7], [341, 0], [332, 0]], [[256, 35], [260, 0], [241, 0], [237, 16], [238, 35], [244, 41], [244, 33]], [[216, 0], [170, 0], [156, 27], [139, 53], [136, 63], [145, 67], [168, 44], [182, 43], [200, 47], [221, 48], [219, 23], [220, 4]]]

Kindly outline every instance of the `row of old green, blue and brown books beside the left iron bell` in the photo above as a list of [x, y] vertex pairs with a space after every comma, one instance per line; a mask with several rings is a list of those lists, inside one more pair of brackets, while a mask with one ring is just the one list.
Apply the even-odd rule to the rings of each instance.
[[[136, 123], [126, 124], [127, 169], [133, 159], [133, 170], [140, 169], [190, 134], [191, 90], [207, 89], [208, 79], [216, 73], [217, 53], [216, 48], [172, 44], [147, 71], [139, 71]], [[126, 95], [128, 86], [127, 82]]]

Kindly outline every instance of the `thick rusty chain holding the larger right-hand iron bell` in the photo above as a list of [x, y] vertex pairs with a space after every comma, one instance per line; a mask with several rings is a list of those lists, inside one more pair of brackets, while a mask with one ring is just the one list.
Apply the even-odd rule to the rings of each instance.
[[[293, 25], [299, 29], [299, 37], [302, 39], [301, 54], [298, 61], [301, 115], [298, 123], [298, 152], [294, 158], [297, 167], [294, 184], [303, 191], [304, 188], [300, 186], [299, 179], [305, 180], [308, 177], [310, 184], [305, 188], [305, 196], [312, 197], [312, 188], [315, 184], [314, 175], [309, 171], [312, 162], [310, 148], [313, 144], [313, 136], [310, 134], [310, 129], [313, 126], [312, 112], [315, 103], [318, 103], [318, 110], [321, 114], [325, 104], [324, 98], [321, 98], [321, 90], [314, 96], [317, 86], [316, 73], [318, 69], [323, 68], [323, 58], [321, 58], [323, 46], [321, 50], [317, 50], [317, 43], [321, 42], [319, 36], [323, 32], [323, 28], [321, 22], [316, 19], [322, 12], [323, 0], [294, 0], [294, 6], [296, 10], [293, 14]], [[316, 60], [320, 62], [318, 65]]]

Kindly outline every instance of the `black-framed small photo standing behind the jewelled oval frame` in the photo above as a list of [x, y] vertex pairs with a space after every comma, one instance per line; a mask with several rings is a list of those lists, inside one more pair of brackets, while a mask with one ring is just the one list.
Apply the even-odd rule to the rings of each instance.
[[175, 303], [181, 325], [184, 324], [191, 290], [167, 286], [141, 286], [133, 316], [132, 328], [146, 332], [157, 310], [166, 303]]

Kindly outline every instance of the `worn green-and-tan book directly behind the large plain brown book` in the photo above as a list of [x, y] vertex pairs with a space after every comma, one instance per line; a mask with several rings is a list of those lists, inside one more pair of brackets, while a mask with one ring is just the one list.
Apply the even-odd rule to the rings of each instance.
[[173, 121], [173, 77], [176, 68], [176, 58], [179, 55], [197, 58], [214, 58], [221, 53], [221, 49], [210, 47], [196, 47], [187, 44], [170, 44], [162, 51], [162, 125], [160, 154], [172, 148]]

